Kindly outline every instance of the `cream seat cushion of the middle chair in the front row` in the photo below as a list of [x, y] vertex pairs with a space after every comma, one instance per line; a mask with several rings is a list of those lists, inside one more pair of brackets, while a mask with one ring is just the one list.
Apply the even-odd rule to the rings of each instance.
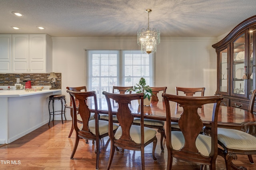
[[[122, 127], [118, 127], [116, 130], [115, 138], [120, 139], [122, 135]], [[130, 136], [132, 140], [136, 143], [141, 143], [141, 133], [140, 126], [132, 125], [130, 128]], [[148, 127], [144, 127], [144, 143], [148, 142], [148, 140], [154, 138], [156, 136], [156, 130]]]

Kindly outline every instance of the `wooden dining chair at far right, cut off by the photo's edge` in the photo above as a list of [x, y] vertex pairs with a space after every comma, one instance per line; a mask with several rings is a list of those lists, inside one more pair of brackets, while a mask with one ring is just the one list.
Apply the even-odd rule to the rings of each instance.
[[[254, 101], [256, 90], [253, 91], [249, 102], [248, 112], [253, 115]], [[236, 168], [232, 160], [236, 160], [236, 154], [248, 155], [251, 164], [254, 164], [252, 154], [256, 154], [256, 138], [252, 136], [252, 129], [255, 128], [255, 122], [243, 123], [246, 126], [246, 132], [242, 130], [218, 128], [218, 143], [223, 149], [220, 149], [220, 156], [225, 159], [226, 169], [230, 170], [231, 166]]]

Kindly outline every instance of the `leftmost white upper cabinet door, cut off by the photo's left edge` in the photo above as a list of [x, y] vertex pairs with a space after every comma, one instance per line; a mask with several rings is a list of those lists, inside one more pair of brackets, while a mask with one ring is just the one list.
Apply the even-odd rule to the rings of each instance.
[[0, 73], [12, 72], [12, 35], [0, 35]]

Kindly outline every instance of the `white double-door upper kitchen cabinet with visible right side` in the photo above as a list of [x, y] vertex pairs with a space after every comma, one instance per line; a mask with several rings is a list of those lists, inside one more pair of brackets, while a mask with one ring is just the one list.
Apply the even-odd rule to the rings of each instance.
[[46, 34], [12, 35], [12, 73], [52, 71], [52, 38]]

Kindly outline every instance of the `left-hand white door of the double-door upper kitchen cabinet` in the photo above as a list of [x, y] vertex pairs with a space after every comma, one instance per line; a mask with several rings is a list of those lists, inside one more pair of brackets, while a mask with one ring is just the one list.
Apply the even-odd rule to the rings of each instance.
[[12, 35], [12, 72], [29, 72], [29, 36], [28, 34]]

